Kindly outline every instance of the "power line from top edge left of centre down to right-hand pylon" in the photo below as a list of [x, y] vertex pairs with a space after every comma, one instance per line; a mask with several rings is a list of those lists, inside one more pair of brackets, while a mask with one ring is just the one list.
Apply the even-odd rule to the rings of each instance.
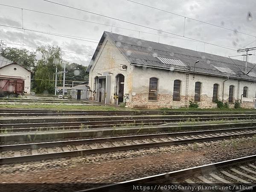
[[[224, 49], [230, 49], [230, 48], [227, 48], [227, 47], [219, 46], [219, 45], [212, 44], [212, 43], [205, 42], [205, 41], [201, 41], [201, 40], [198, 40], [198, 39], [189, 38], [189, 37], [186, 37], [186, 36], [183, 36], [183, 35], [177, 35], [175, 33], [166, 32], [166, 31], [163, 31], [163, 30], [155, 29], [155, 28], [144, 26], [144, 25], [137, 24], [137, 23], [132, 23], [130, 21], [126, 21], [126, 20], [122, 20], [122, 19], [118, 19], [118, 18], [114, 18], [114, 17], [110, 17], [110, 16], [106, 16], [106, 15], [102, 15], [102, 14], [98, 14], [98, 13], [94, 13], [94, 12], [89, 12], [89, 11], [86, 11], [84, 9], [79, 9], [79, 8], [72, 7], [72, 6], [67, 6], [67, 5], [64, 5], [64, 4], [61, 4], [61, 3], [56, 3], [56, 2], [49, 1], [49, 0], [43, 0], [43, 1], [53, 3], [53, 4], [56, 4], [56, 5], [60, 5], [60, 6], [64, 6], [64, 7], [68, 7], [68, 8], [71, 8], [71, 9], [76, 9], [76, 10], [79, 10], [79, 11], [82, 11], [82, 12], [87, 12], [87, 13], [90, 13], [90, 14], [93, 14], [93, 15], [99, 15], [99, 16], [106, 17], [106, 18], [109, 18], [109, 19], [118, 20], [118, 21], [121, 21], [121, 22], [124, 22], [124, 23], [129, 23], [129, 24], [132, 24], [132, 25], [141, 26], [141, 27], [144, 27], [144, 28], [147, 28], [147, 29], [156, 30], [158, 32], [164, 32], [164, 33], [168, 33], [168, 34], [175, 35], [175, 36], [178, 36], [178, 37], [184, 37], [184, 38], [188, 38], [188, 39], [191, 39], [191, 40], [195, 40], [195, 41], [198, 41], [198, 42], [201, 42], [201, 43], [205, 43], [205, 44], [209, 44], [209, 45], [213, 45], [213, 46], [217, 46], [217, 47], [222, 47]], [[235, 49], [230, 49], [230, 50], [236, 51]]]

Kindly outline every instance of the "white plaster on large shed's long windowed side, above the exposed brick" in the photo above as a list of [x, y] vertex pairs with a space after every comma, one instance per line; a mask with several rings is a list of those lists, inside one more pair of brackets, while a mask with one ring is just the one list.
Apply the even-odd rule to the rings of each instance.
[[[157, 94], [170, 94], [173, 95], [173, 86], [174, 80], [181, 81], [180, 87], [180, 96], [186, 95], [186, 73], [177, 72], [177, 71], [168, 71], [168, 70], [160, 70], [149, 67], [135, 67], [133, 72], [133, 87], [132, 92], [135, 93], [148, 93], [149, 88], [149, 79], [151, 77], [158, 78], [158, 90]], [[211, 101], [213, 95], [213, 84], [217, 83], [218, 86], [218, 100], [222, 101], [222, 91], [223, 91], [223, 81], [226, 80], [227, 77], [218, 77], [218, 76], [207, 76], [207, 75], [199, 75], [199, 74], [189, 74], [189, 87], [188, 87], [188, 96], [189, 100], [194, 98], [195, 95], [195, 82], [201, 82], [201, 98], [206, 96], [208, 101]], [[256, 82], [253, 81], [245, 81], [240, 80], [240, 89], [238, 93], [238, 79], [228, 79], [224, 83], [224, 102], [228, 101], [229, 96], [229, 86], [234, 86], [234, 99], [241, 99], [241, 94], [243, 94], [243, 87], [248, 87], [248, 97], [242, 97], [243, 101], [253, 102], [253, 98], [256, 96]], [[147, 105], [151, 105], [150, 101], [147, 102]], [[172, 103], [173, 106], [182, 107], [182, 101], [174, 101]], [[204, 101], [203, 101], [204, 102]], [[151, 102], [152, 105], [160, 105], [155, 101]], [[199, 102], [200, 104], [200, 102]]]

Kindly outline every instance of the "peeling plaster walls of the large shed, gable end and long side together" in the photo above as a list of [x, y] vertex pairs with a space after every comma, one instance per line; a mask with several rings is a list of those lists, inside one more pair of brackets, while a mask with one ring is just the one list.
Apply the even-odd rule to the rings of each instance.
[[[248, 96], [242, 97], [241, 106], [243, 108], [254, 108], [256, 82], [189, 73], [188, 85], [186, 85], [187, 73], [132, 66], [118, 47], [109, 41], [108, 37], [102, 43], [96, 59], [91, 62], [92, 67], [89, 72], [89, 99], [97, 99], [96, 93], [93, 95], [93, 91], [96, 91], [94, 88], [94, 78], [108, 76], [111, 79], [110, 90], [107, 90], [108, 97], [110, 98], [109, 103], [117, 104], [117, 100], [114, 99], [114, 93], [116, 93], [116, 76], [122, 74], [125, 76], [124, 94], [129, 94], [126, 105], [131, 108], [180, 108], [189, 106], [189, 101], [194, 101], [195, 83], [198, 81], [201, 82], [201, 99], [198, 102], [200, 108], [217, 107], [216, 103], [212, 102], [213, 84], [218, 84], [218, 100], [222, 101], [223, 98], [223, 102], [228, 102], [230, 85], [234, 86], [233, 102], [238, 99], [240, 101], [241, 94], [243, 94], [243, 87], [248, 87]], [[122, 65], [127, 65], [127, 69], [123, 70]], [[149, 79], [152, 77], [158, 79], [156, 101], [148, 100]], [[181, 81], [180, 101], [173, 101], [174, 80]], [[186, 86], [188, 90], [187, 96]], [[230, 104], [230, 107], [233, 106], [233, 104]]]

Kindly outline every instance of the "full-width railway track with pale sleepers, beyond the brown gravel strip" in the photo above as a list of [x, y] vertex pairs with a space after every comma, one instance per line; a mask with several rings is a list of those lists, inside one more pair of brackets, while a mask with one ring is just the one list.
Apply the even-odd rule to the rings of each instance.
[[166, 145], [208, 142], [235, 137], [250, 137], [255, 134], [256, 128], [231, 128], [167, 134], [106, 137], [87, 140], [1, 145], [0, 164], [76, 157], [85, 154], [134, 150]]

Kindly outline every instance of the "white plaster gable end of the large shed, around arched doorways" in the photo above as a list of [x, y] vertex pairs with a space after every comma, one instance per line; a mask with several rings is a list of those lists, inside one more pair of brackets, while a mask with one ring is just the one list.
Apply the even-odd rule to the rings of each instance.
[[[121, 64], [127, 65], [127, 69], [122, 70]], [[105, 38], [105, 41], [103, 42], [102, 47], [99, 50], [96, 59], [93, 61], [92, 67], [89, 71], [90, 89], [94, 89], [94, 78], [96, 76], [111, 76], [110, 98], [111, 103], [114, 104], [113, 94], [115, 93], [116, 88], [116, 76], [118, 74], [122, 74], [125, 76], [124, 94], [128, 93], [131, 96], [133, 84], [132, 70], [133, 66], [130, 65], [130, 62], [127, 61], [127, 59], [120, 52], [120, 50], [113, 44], [113, 42], [109, 41], [108, 38]], [[98, 73], [102, 75], [99, 75]]]

